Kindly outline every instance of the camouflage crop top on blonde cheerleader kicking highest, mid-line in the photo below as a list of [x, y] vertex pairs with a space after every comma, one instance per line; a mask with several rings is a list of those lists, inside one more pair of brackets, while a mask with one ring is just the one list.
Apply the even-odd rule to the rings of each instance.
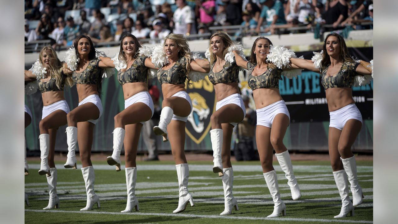
[[158, 80], [160, 84], [170, 83], [170, 84], [184, 84], [187, 79], [187, 59], [181, 57], [174, 64], [173, 67], [167, 70], [158, 70]]

